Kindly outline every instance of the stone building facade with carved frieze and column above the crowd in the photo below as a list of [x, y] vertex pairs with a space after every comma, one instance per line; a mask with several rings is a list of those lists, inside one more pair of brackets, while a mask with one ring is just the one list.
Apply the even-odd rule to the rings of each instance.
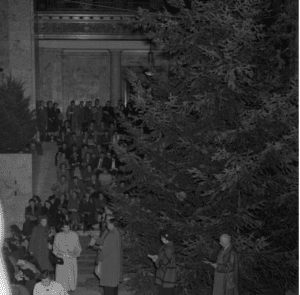
[[[40, 99], [57, 102], [64, 114], [71, 100], [98, 98], [101, 105], [107, 100], [116, 105], [126, 99], [126, 68], [147, 67], [149, 42], [130, 29], [132, 9], [117, 4], [109, 9], [105, 5], [114, 2], [94, 0], [79, 1], [78, 10], [64, 7], [67, 2], [38, 1], [46, 5], [41, 8], [33, 0], [0, 0], [2, 76], [12, 74], [24, 82], [32, 108]], [[93, 9], [92, 3], [101, 5]], [[133, 4], [127, 1], [128, 7]], [[168, 62], [159, 50], [154, 56], [166, 78]]]

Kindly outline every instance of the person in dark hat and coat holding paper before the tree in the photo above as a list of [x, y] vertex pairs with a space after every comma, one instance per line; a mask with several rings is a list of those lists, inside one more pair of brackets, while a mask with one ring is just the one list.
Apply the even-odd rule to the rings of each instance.
[[160, 234], [164, 244], [158, 251], [158, 255], [148, 255], [155, 266], [155, 283], [158, 285], [159, 295], [173, 295], [176, 283], [176, 259], [173, 235], [169, 230], [163, 230]]

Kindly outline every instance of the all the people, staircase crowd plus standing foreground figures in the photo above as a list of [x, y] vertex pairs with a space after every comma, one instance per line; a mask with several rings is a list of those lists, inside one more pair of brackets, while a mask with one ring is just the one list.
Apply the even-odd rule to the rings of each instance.
[[[76, 289], [77, 258], [82, 247], [78, 234], [98, 229], [87, 248], [98, 251], [95, 274], [104, 287], [105, 295], [117, 295], [122, 282], [122, 238], [120, 222], [111, 210], [109, 195], [113, 192], [134, 204], [126, 183], [120, 181], [123, 163], [115, 152], [116, 145], [128, 144], [120, 116], [128, 108], [119, 101], [112, 108], [95, 100], [72, 101], [63, 122], [57, 103], [40, 101], [37, 106], [38, 136], [36, 148], [42, 154], [42, 141], [56, 141], [53, 159], [56, 182], [42, 204], [33, 196], [25, 208], [21, 230], [11, 226], [11, 235], [3, 247], [4, 260], [12, 290], [22, 295], [67, 295]], [[159, 295], [173, 295], [176, 284], [174, 236], [169, 230], [161, 232], [163, 246], [158, 254], [148, 255], [155, 267], [155, 283]], [[237, 293], [237, 254], [230, 236], [221, 236], [224, 248], [216, 263], [204, 261], [215, 268], [214, 295]], [[55, 277], [55, 280], [54, 280]], [[229, 280], [229, 279], [230, 280]], [[224, 289], [224, 284], [226, 288]], [[228, 291], [228, 292], [227, 292]], [[50, 292], [50, 293], [49, 293]]]

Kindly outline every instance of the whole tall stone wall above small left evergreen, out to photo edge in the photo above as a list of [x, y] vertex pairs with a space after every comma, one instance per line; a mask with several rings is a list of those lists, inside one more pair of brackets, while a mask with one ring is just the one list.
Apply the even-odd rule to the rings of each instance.
[[[24, 83], [35, 107], [33, 0], [0, 0], [0, 78], [12, 74]], [[2, 77], [1, 77], [2, 76]]]

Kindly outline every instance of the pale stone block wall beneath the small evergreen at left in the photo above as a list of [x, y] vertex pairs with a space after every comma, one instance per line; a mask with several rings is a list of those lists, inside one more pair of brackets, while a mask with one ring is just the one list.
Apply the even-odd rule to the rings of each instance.
[[24, 210], [32, 197], [32, 155], [0, 155], [0, 199], [5, 233], [11, 224], [22, 229]]

